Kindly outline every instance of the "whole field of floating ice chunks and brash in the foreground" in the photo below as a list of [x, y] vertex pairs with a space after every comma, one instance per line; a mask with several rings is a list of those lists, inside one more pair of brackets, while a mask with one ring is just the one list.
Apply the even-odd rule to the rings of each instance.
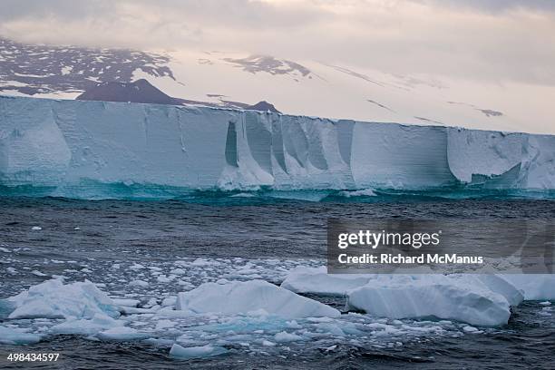
[[[19, 251], [3, 248], [3, 260]], [[0, 299], [0, 344], [58, 335], [141, 341], [176, 358], [295, 355], [307, 347], [409, 346], [502, 330], [511, 307], [541, 301], [550, 275], [328, 275], [320, 259], [44, 260], [44, 282]], [[63, 275], [41, 269], [61, 266]], [[10, 268], [13, 275], [31, 267]], [[94, 278], [94, 282], [89, 281]], [[430, 304], [433, 302], [433, 304]]]

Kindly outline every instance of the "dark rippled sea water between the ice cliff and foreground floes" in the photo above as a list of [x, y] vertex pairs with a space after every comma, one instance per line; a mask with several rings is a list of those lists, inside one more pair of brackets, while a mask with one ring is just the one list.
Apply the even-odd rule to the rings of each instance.
[[[212, 191], [152, 197], [151, 192], [145, 192], [150, 194], [147, 197], [138, 191], [128, 194], [130, 200], [74, 200], [5, 193], [0, 198], [0, 298], [14, 296], [57, 276], [66, 282], [89, 279], [112, 297], [138, 299], [141, 307], [149, 307], [221, 277], [262, 278], [278, 284], [289, 268], [322, 266], [329, 218], [485, 220], [552, 219], [555, 215], [555, 200], [549, 193]], [[33, 230], [34, 226], [42, 229]], [[143, 268], [136, 268], [138, 264]], [[176, 267], [185, 269], [185, 274], [172, 277], [170, 271]], [[138, 278], [147, 281], [148, 286], [129, 285]], [[343, 298], [310, 297], [344, 310]], [[297, 320], [299, 330], [312, 333], [313, 338], [277, 346], [261, 343], [287, 323], [267, 323], [256, 317], [222, 318], [212, 323], [180, 319], [175, 320], [172, 331], [157, 328], [152, 317], [130, 316], [130, 326], [149, 333], [148, 341], [46, 336], [35, 345], [0, 345], [0, 354], [60, 352], [62, 358], [55, 365], [59, 368], [166, 369], [194, 365], [547, 369], [553, 368], [555, 353], [554, 313], [540, 302], [525, 302], [513, 309], [509, 325], [478, 327], [473, 333], [456, 322], [394, 322], [345, 314], [326, 327]], [[5, 316], [0, 307], [0, 324], [31, 332], [48, 332], [56, 324], [55, 320], [8, 320]], [[262, 326], [265, 333], [254, 333]], [[183, 334], [190, 336], [192, 344], [202, 345], [209, 340], [229, 352], [199, 360], [170, 358], [170, 343]]]

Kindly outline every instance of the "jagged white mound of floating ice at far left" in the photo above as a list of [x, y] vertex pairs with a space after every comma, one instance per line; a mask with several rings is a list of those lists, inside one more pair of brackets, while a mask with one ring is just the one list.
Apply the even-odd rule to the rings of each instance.
[[9, 318], [120, 316], [112, 299], [89, 281], [63, 285], [59, 279], [47, 280], [7, 299], [15, 307]]

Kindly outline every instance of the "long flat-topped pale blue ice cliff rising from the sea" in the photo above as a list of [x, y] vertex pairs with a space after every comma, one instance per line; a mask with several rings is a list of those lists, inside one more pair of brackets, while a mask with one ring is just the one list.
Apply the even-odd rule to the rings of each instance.
[[555, 136], [0, 96], [0, 185], [555, 189]]

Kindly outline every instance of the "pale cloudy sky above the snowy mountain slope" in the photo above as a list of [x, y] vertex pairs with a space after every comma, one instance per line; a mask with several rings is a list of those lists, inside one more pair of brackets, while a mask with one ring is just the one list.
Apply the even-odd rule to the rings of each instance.
[[0, 35], [555, 85], [552, 0], [3, 0]]

